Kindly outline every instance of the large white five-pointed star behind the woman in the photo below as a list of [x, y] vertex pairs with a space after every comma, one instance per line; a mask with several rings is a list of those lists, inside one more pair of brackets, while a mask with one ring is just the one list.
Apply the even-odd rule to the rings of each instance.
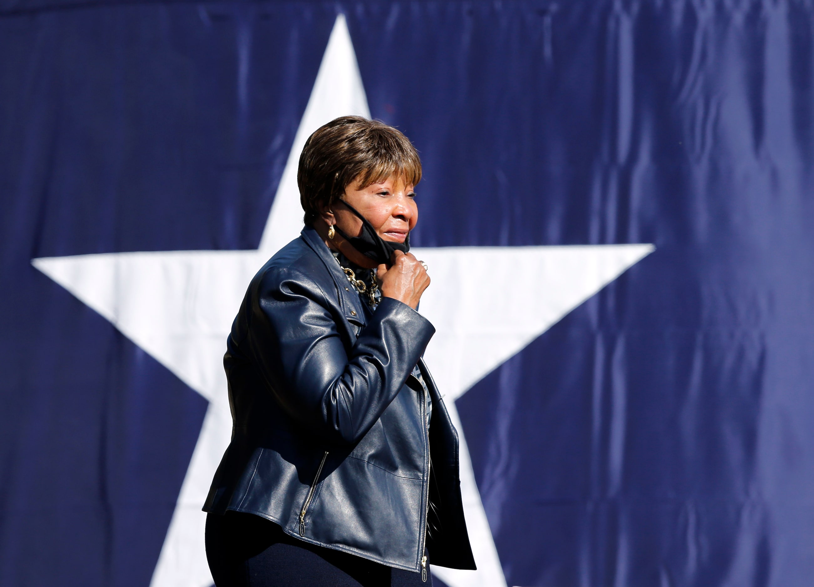
[[[200, 508], [230, 440], [222, 367], [225, 339], [252, 276], [300, 233], [296, 168], [305, 139], [322, 124], [348, 114], [370, 117], [348, 27], [339, 15], [257, 250], [89, 254], [32, 261], [209, 401], [151, 587], [212, 583]], [[421, 311], [435, 324], [436, 333], [425, 359], [461, 434], [462, 494], [478, 565], [478, 571], [434, 567], [451, 587], [505, 587], [455, 398], [652, 250], [651, 245], [415, 250], [429, 265], [432, 278]]]

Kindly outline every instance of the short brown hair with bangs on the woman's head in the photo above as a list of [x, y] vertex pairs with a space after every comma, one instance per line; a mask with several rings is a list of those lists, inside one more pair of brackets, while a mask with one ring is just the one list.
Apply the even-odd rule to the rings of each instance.
[[413, 143], [379, 120], [340, 116], [317, 128], [305, 141], [297, 170], [305, 224], [312, 224], [319, 207], [341, 198], [352, 182], [365, 188], [389, 176], [409, 185], [421, 180], [421, 159]]

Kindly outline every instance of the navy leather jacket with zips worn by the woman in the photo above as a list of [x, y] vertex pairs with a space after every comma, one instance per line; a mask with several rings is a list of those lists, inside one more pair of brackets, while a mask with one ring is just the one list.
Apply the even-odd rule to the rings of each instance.
[[252, 279], [234, 319], [232, 440], [204, 511], [250, 512], [391, 567], [421, 570], [426, 546], [433, 564], [474, 569], [457, 433], [421, 359], [433, 333], [395, 299], [371, 312], [304, 228]]

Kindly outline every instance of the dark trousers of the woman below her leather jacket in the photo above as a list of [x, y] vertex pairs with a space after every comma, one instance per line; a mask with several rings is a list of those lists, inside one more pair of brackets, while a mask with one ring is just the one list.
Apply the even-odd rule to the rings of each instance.
[[[428, 587], [420, 572], [288, 536], [259, 515], [208, 514], [206, 554], [216, 587]], [[429, 567], [429, 565], [427, 565]]]

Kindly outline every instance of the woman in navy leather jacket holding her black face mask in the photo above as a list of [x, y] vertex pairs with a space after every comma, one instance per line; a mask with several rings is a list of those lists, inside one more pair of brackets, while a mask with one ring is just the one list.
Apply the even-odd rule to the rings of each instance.
[[344, 116], [305, 143], [299, 238], [252, 280], [224, 365], [232, 441], [204, 511], [230, 585], [428, 585], [475, 568], [457, 434], [421, 360], [418, 153]]

